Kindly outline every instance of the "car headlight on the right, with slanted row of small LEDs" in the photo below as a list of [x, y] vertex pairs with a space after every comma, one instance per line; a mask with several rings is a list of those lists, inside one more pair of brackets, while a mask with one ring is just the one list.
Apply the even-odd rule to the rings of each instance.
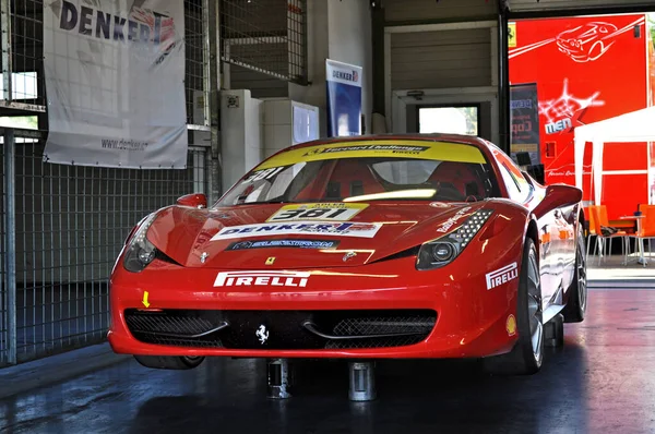
[[416, 258], [416, 269], [434, 269], [453, 262], [487, 222], [492, 213], [491, 209], [477, 210], [454, 231], [422, 244]]

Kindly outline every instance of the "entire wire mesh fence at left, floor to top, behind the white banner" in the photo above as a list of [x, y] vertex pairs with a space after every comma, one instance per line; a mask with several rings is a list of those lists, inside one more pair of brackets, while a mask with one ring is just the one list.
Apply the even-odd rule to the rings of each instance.
[[0, 365], [105, 339], [108, 277], [129, 230], [177, 197], [207, 191], [207, 1], [184, 0], [188, 167], [131, 170], [43, 161], [44, 1], [0, 0], [0, 130], [21, 129], [13, 147], [0, 140]]

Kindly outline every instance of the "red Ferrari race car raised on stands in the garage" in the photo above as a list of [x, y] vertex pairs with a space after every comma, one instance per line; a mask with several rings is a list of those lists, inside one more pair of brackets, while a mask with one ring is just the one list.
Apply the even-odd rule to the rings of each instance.
[[213, 206], [183, 196], [134, 227], [108, 338], [150, 367], [475, 358], [535, 373], [549, 324], [585, 316], [581, 200], [473, 136], [296, 145]]

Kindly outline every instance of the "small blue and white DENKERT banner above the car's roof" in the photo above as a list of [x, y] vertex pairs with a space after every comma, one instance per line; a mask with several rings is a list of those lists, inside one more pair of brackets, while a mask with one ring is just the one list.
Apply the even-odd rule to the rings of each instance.
[[327, 136], [361, 134], [361, 68], [325, 60]]

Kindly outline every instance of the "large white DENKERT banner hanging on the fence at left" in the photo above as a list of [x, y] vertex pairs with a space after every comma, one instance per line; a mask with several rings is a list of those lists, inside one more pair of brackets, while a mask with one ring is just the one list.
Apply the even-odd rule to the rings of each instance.
[[44, 160], [186, 168], [184, 63], [180, 0], [47, 0]]

